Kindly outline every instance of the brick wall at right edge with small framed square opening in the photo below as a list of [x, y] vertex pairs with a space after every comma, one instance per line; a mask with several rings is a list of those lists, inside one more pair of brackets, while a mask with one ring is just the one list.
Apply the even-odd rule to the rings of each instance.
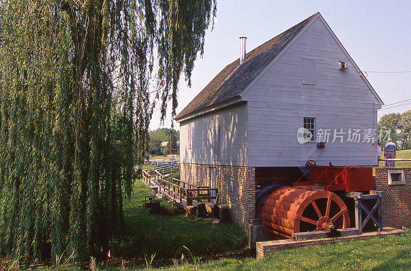
[[[405, 185], [388, 185], [388, 170], [404, 170]], [[411, 226], [411, 168], [373, 168], [374, 189], [383, 191], [383, 224]]]

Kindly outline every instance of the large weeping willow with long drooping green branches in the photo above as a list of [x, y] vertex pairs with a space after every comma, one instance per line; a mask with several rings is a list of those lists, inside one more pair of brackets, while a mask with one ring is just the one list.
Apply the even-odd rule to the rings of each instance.
[[133, 149], [144, 155], [156, 101], [175, 115], [215, 11], [215, 0], [0, 0], [3, 253], [107, 251]]

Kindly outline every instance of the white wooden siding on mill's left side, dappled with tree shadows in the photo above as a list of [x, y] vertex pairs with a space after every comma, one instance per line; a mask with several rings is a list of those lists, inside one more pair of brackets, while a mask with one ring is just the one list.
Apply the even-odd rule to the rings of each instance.
[[[193, 133], [191, 149], [188, 131]], [[247, 104], [180, 122], [180, 159], [193, 164], [246, 166]]]

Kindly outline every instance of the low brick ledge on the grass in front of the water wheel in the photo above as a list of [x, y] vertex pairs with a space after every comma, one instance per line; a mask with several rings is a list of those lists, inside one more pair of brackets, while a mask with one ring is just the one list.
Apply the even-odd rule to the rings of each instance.
[[337, 244], [337, 243], [345, 242], [345, 241], [354, 241], [354, 240], [368, 239], [372, 237], [388, 236], [388, 235], [398, 234], [398, 233], [403, 233], [403, 232], [405, 232], [405, 230], [395, 229], [395, 228], [384, 228], [384, 231], [364, 232], [362, 234], [356, 234], [353, 236], [342, 236], [342, 237], [299, 240], [299, 241], [285, 239], [285, 240], [257, 242], [256, 243], [257, 259], [261, 259], [261, 258], [270, 256], [270, 255], [273, 255], [278, 250], [285, 250], [285, 249], [310, 246], [310, 245]]

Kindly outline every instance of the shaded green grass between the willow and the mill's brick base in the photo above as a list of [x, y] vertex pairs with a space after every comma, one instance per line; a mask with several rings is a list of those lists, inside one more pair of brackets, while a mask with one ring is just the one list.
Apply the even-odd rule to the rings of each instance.
[[[110, 243], [112, 255], [142, 257], [146, 253], [156, 254], [157, 258], [181, 258], [183, 245], [202, 255], [245, 246], [245, 234], [234, 223], [212, 225], [210, 220], [190, 219], [184, 214], [149, 214], [142, 207], [146, 195], [151, 195], [151, 190], [137, 180], [131, 200], [124, 204], [126, 226], [121, 236]], [[171, 207], [165, 199], [162, 205]]]

